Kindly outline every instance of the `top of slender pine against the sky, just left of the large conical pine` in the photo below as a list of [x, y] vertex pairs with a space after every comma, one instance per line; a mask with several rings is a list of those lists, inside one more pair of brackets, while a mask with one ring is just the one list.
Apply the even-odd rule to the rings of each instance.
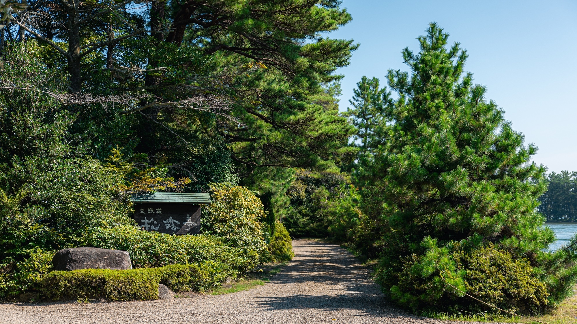
[[390, 100], [390, 92], [386, 88], [379, 89], [379, 79], [366, 76], [357, 82], [357, 89], [353, 89], [353, 99], [349, 103], [354, 107], [347, 109], [347, 116], [357, 127], [355, 140], [361, 140], [361, 153], [376, 148], [383, 143], [386, 134], [386, 120], [384, 108]]

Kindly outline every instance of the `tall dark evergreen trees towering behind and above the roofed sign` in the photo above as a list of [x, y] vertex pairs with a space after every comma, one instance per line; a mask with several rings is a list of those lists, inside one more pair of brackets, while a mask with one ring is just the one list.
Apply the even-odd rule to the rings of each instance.
[[353, 130], [319, 102], [334, 99], [324, 85], [357, 47], [321, 36], [351, 20], [340, 1], [27, 3], [9, 4], [0, 36], [38, 41], [66, 74], [62, 92], [82, 93], [70, 134], [97, 159], [121, 146], [191, 178], [190, 190], [235, 174], [256, 189], [256, 169], [330, 167]]

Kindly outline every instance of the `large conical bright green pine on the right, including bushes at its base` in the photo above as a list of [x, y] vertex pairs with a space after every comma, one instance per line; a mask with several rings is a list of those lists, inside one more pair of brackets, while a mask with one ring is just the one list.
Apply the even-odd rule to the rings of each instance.
[[[521, 312], [554, 308], [572, 294], [577, 244], [545, 252], [537, 198], [546, 190], [537, 151], [463, 73], [466, 51], [431, 24], [411, 73], [389, 70], [399, 97], [386, 147], [365, 172], [383, 232], [379, 281], [407, 308], [485, 311], [470, 295]], [[372, 179], [370, 179], [372, 176]], [[366, 208], [366, 209], [368, 209]], [[451, 287], [451, 285], [453, 287]]]

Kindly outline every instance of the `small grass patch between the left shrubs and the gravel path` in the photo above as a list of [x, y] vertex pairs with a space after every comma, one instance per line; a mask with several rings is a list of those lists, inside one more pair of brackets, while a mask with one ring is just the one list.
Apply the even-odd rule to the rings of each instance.
[[244, 276], [237, 278], [237, 280], [231, 281], [230, 284], [223, 284], [222, 287], [207, 292], [207, 295], [233, 293], [262, 286], [265, 282], [270, 281], [272, 276], [279, 273], [287, 263], [288, 262], [265, 264], [257, 271], [246, 273]]

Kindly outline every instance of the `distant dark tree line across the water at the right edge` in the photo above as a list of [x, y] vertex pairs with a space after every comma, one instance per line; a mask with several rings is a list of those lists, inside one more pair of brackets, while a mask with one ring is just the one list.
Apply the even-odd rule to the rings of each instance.
[[547, 221], [577, 221], [577, 172], [551, 172], [549, 189], [539, 198], [539, 212]]

